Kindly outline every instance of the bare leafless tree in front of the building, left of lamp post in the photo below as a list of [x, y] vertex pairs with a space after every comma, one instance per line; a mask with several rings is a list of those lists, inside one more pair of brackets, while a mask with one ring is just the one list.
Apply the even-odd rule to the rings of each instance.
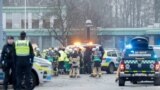
[[69, 36], [75, 32], [74, 29], [83, 26], [81, 12], [76, 5], [75, 0], [53, 0], [48, 5], [51, 12], [43, 16], [44, 18], [55, 16], [54, 25], [48, 28], [48, 32], [63, 46], [67, 45]]

